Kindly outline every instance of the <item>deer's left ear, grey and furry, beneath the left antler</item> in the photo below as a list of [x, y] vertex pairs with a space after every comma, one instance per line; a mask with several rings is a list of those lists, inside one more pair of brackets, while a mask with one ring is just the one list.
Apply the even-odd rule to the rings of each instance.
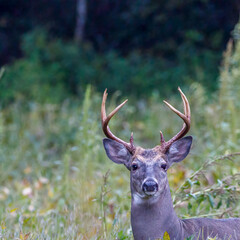
[[117, 164], [124, 164], [128, 169], [130, 169], [131, 153], [123, 144], [109, 138], [104, 138], [103, 146], [110, 160]]

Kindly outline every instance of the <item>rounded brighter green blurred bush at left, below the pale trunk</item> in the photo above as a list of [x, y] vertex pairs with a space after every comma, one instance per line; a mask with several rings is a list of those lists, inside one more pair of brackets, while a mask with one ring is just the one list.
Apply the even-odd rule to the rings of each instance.
[[[78, 92], [76, 81], [81, 85], [79, 75], [83, 69], [87, 72], [87, 62], [81, 66], [81, 53], [76, 46], [50, 40], [44, 31], [36, 30], [25, 36], [22, 49], [26, 57], [7, 68], [1, 82], [6, 89], [1, 93], [3, 101], [24, 98], [58, 102], [69, 92]], [[81, 70], [76, 72], [79, 66]]]

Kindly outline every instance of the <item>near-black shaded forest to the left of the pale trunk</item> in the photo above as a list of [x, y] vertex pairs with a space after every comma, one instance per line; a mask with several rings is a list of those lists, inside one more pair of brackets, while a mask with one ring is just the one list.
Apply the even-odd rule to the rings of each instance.
[[0, 65], [20, 57], [23, 34], [39, 26], [53, 37], [73, 38], [75, 19], [76, 0], [0, 0]]

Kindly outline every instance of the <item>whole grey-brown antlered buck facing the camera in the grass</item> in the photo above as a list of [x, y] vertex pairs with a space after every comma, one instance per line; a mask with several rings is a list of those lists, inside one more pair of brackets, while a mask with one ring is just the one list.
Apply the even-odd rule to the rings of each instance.
[[171, 240], [239, 240], [240, 218], [180, 219], [174, 211], [167, 171], [174, 163], [186, 158], [192, 145], [192, 137], [184, 137], [190, 130], [190, 105], [180, 88], [178, 91], [183, 101], [184, 114], [168, 102], [164, 103], [183, 120], [183, 126], [168, 141], [165, 141], [160, 131], [160, 144], [151, 149], [135, 146], [133, 133], [129, 142], [112, 133], [109, 121], [128, 100], [107, 115], [107, 89], [103, 94], [101, 122], [107, 137], [103, 139], [106, 154], [114, 163], [123, 164], [130, 171], [133, 237], [135, 240], [156, 240], [162, 239], [167, 232]]

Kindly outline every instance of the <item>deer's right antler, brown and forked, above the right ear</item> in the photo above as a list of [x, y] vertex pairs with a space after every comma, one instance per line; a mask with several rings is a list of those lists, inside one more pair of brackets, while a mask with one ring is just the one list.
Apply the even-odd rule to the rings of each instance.
[[168, 148], [178, 139], [182, 138], [183, 136], [185, 136], [187, 134], [187, 132], [190, 129], [190, 124], [191, 124], [191, 111], [190, 111], [190, 106], [189, 106], [189, 102], [186, 98], [186, 96], [184, 95], [184, 93], [182, 92], [182, 90], [180, 89], [180, 87], [178, 87], [178, 91], [181, 94], [182, 97], [182, 101], [183, 101], [183, 105], [184, 105], [184, 114], [179, 112], [176, 108], [174, 108], [172, 105], [170, 105], [168, 102], [163, 101], [173, 112], [175, 112], [180, 118], [182, 118], [182, 120], [184, 121], [183, 123], [183, 127], [181, 129], [181, 131], [179, 133], [177, 133], [173, 138], [171, 138], [169, 141], [165, 142], [164, 137], [162, 132], [160, 132], [160, 136], [161, 136], [161, 149], [163, 151], [167, 151]]

